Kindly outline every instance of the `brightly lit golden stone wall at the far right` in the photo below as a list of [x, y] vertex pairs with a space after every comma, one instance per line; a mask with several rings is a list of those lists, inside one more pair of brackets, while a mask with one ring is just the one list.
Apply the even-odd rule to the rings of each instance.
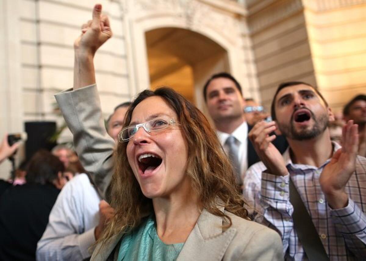
[[315, 75], [330, 107], [340, 111], [366, 93], [366, 1], [305, 1]]

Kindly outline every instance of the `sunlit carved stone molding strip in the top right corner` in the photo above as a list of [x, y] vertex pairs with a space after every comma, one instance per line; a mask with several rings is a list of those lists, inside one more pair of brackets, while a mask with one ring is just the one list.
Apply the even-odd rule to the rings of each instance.
[[316, 12], [348, 7], [357, 4], [366, 4], [366, 0], [303, 0], [304, 5]]

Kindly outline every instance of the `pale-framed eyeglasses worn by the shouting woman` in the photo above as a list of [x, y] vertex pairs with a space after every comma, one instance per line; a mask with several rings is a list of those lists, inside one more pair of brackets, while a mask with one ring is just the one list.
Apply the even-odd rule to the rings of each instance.
[[175, 122], [175, 119], [159, 117], [144, 123], [130, 125], [120, 131], [120, 133], [118, 134], [118, 140], [119, 142], [129, 141], [132, 137], [135, 136], [140, 127], [143, 127], [146, 132], [152, 133], [154, 131], [164, 130], [168, 128], [169, 125], [175, 124], [178, 124]]

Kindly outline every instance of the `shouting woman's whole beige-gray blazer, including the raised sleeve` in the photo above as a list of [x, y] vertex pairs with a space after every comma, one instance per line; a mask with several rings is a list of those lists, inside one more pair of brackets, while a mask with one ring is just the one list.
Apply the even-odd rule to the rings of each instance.
[[[105, 195], [113, 173], [111, 155], [115, 143], [104, 127], [96, 85], [67, 90], [55, 97], [74, 136], [75, 150], [82, 165]], [[223, 231], [223, 219], [203, 210], [178, 260], [283, 260], [283, 247], [277, 232], [225, 213], [231, 217], [232, 226]], [[120, 238], [112, 238], [97, 255], [93, 254], [91, 260], [116, 260]]]

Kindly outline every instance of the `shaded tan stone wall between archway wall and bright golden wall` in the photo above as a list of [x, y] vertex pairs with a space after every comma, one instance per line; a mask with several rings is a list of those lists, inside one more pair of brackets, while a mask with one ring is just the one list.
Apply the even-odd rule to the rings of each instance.
[[300, 0], [252, 1], [248, 20], [259, 93], [267, 109], [279, 83], [304, 81], [315, 84]]

